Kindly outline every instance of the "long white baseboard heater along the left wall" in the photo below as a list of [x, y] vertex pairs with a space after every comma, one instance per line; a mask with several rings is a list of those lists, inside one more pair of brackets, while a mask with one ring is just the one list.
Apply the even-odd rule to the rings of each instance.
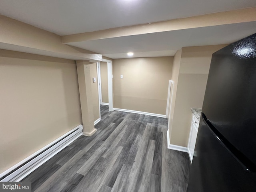
[[19, 182], [82, 135], [83, 126], [78, 125], [50, 144], [0, 174], [0, 182]]

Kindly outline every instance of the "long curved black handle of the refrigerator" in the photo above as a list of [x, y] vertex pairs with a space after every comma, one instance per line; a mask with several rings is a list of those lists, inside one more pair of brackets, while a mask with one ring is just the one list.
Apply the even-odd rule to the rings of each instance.
[[239, 162], [239, 164], [248, 172], [256, 172], [256, 165], [248, 159], [242, 152], [235, 148], [220, 132], [211, 124], [204, 113], [202, 119], [207, 127], [210, 129], [214, 137], [222, 144], [230, 154]]

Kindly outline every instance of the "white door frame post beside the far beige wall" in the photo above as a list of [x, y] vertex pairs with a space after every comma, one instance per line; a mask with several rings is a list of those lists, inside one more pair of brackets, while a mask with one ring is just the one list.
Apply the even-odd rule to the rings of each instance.
[[108, 63], [108, 110], [113, 111], [112, 60], [102, 59], [102, 61]]

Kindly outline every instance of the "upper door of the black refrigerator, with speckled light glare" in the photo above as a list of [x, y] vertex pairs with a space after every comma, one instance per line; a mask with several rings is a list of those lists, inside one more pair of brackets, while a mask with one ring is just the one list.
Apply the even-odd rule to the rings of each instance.
[[212, 55], [202, 111], [256, 164], [256, 34]]

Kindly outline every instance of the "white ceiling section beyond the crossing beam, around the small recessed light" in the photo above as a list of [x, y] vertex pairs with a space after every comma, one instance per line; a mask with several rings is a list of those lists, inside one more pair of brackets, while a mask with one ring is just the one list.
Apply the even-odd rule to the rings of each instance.
[[[68, 44], [100, 52], [113, 59], [128, 58], [127, 52], [134, 52], [133, 57], [140, 57], [143, 52], [146, 56], [173, 56], [182, 47], [230, 44], [255, 32], [256, 22], [246, 22]], [[154, 54], [156, 50], [158, 52]]]

